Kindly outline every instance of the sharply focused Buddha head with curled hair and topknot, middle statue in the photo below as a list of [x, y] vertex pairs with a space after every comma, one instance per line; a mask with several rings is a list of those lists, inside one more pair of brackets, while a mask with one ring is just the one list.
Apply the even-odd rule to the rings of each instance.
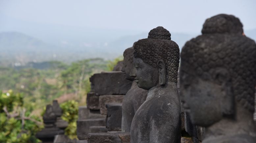
[[156, 85], [177, 83], [179, 46], [170, 36], [169, 31], [157, 27], [148, 38], [134, 44], [134, 76], [140, 88], [149, 90]]

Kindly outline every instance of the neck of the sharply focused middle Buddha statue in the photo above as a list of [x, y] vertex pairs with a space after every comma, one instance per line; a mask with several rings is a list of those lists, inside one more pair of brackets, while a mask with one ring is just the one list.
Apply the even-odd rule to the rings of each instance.
[[175, 82], [166, 82], [165, 85], [157, 84], [156, 86], [154, 86], [154, 87], [152, 87], [151, 89], [148, 90], [146, 101], [155, 97], [155, 96], [161, 96], [161, 95], [164, 95], [164, 94], [169, 94], [171, 92], [178, 93], [177, 83], [175, 83]]

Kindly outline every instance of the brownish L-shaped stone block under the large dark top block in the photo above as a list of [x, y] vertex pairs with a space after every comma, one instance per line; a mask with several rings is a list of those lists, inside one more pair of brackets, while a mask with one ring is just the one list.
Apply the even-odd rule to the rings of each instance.
[[99, 96], [100, 113], [107, 115], [107, 103], [122, 103], [124, 95], [101, 95]]

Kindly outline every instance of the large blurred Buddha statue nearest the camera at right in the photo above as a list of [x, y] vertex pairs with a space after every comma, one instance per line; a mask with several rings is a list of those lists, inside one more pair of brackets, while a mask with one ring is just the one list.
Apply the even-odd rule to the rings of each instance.
[[203, 143], [255, 143], [256, 45], [233, 15], [207, 19], [181, 52], [184, 108], [205, 127]]

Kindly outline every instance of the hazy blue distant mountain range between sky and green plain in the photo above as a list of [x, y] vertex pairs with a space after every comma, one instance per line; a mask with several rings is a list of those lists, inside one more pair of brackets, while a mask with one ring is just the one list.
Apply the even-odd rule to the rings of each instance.
[[[256, 29], [245, 31], [245, 34], [254, 40], [256, 39]], [[142, 32], [136, 35], [121, 36], [115, 40], [109, 39], [109, 41], [99, 38], [96, 40], [97, 42], [90, 42], [90, 40], [87, 40], [87, 42], [70, 42], [67, 39], [60, 44], [58, 43], [59, 41], [56, 43], [52, 41], [42, 41], [20, 32], [1, 32], [0, 65], [20, 66], [28, 62], [44, 62], [50, 60], [70, 63], [95, 57], [114, 59], [122, 55], [126, 48], [132, 47], [135, 41], [147, 38], [147, 35], [147, 32]], [[172, 40], [179, 45], [180, 49], [184, 46], [186, 41], [197, 35], [199, 35], [199, 33], [171, 33]]]

